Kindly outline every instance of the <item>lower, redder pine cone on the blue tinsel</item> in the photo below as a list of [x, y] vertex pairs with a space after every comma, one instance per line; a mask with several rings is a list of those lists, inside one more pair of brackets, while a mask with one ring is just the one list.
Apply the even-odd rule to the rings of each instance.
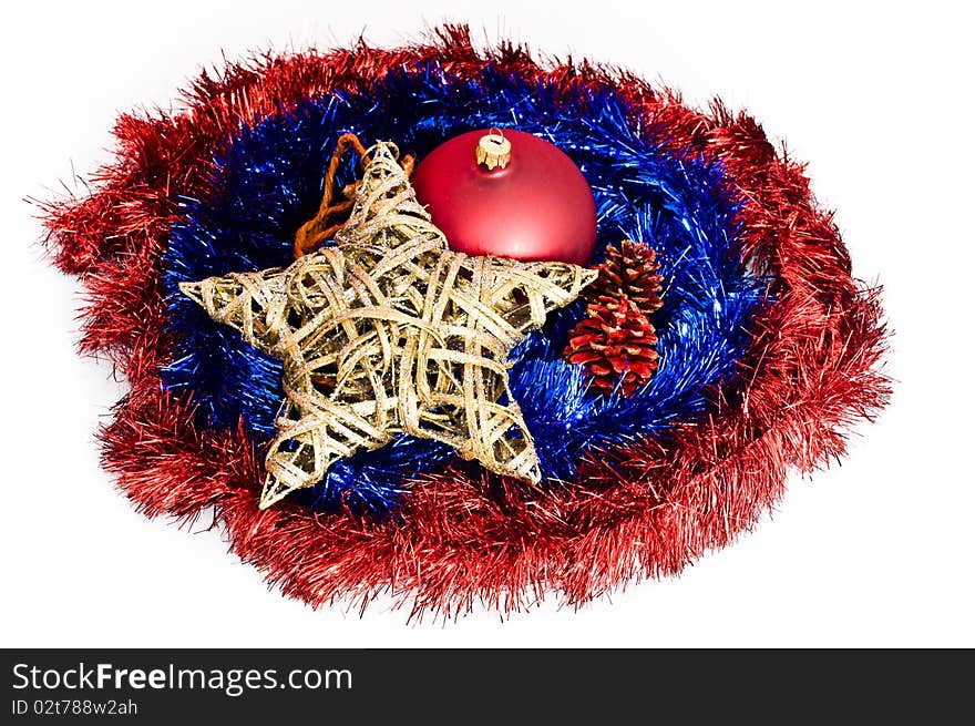
[[646, 384], [657, 370], [657, 334], [647, 316], [625, 296], [599, 296], [572, 329], [563, 354], [586, 367], [604, 391], [619, 387], [624, 396]]

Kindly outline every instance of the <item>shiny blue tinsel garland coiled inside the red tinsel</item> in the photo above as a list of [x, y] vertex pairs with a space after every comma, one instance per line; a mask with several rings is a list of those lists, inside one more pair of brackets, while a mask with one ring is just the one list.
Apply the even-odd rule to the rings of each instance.
[[[513, 352], [511, 389], [550, 482], [572, 479], [594, 448], [659, 434], [706, 410], [708, 389], [736, 370], [749, 315], [766, 289], [738, 250], [737, 203], [722, 190], [721, 170], [664, 151], [610, 89], [556, 93], [491, 71], [473, 83], [429, 64], [242, 130], [214, 160], [213, 193], [185, 200], [164, 259], [178, 346], [164, 381], [193, 393], [201, 425], [227, 428], [243, 420], [255, 440], [267, 441], [283, 397], [280, 366], [175, 293], [177, 283], [290, 264], [295, 231], [318, 207], [340, 133], [355, 132], [367, 144], [392, 140], [422, 157], [451, 136], [489, 126], [517, 127], [568, 154], [595, 195], [596, 258], [607, 243], [643, 241], [656, 249], [665, 279], [665, 306], [654, 316], [660, 369], [633, 397], [587, 392], [583, 371], [562, 360], [581, 304], [551, 315]], [[343, 176], [351, 181], [351, 165]], [[345, 502], [388, 511], [404, 481], [452, 456], [443, 444], [403, 436], [338, 462], [322, 483], [302, 492], [304, 501], [316, 509]]]

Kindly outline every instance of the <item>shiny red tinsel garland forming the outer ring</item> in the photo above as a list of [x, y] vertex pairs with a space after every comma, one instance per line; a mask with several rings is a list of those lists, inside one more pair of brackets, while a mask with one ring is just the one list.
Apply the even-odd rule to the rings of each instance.
[[205, 160], [242, 123], [299, 99], [419, 59], [453, 73], [480, 71], [485, 55], [465, 29], [438, 33], [424, 45], [360, 44], [204, 74], [187, 94], [189, 114], [123, 116], [121, 163], [95, 177], [92, 196], [49, 209], [57, 264], [89, 289], [81, 348], [107, 355], [132, 385], [101, 432], [104, 464], [148, 515], [191, 519], [214, 507], [233, 551], [312, 605], [349, 597], [365, 607], [389, 591], [411, 600], [413, 614], [452, 616], [479, 599], [511, 611], [556, 590], [578, 604], [630, 579], [676, 573], [751, 525], [781, 497], [791, 468], [808, 471], [841, 454], [843, 431], [887, 396], [876, 293], [850, 277], [802, 167], [777, 156], [745, 114], [687, 109], [609, 69], [545, 69], [521, 48], [488, 51], [526, 78], [612, 83], [676, 153], [720, 159], [743, 200], [746, 253], [779, 280], [741, 361], [749, 384], [740, 400], [719, 398], [708, 422], [666, 441], [594, 454], [585, 485], [540, 492], [458, 467], [417, 481], [396, 520], [316, 515], [287, 502], [259, 511], [260, 456], [243, 432], [195, 430], [185, 405], [162, 391], [170, 346], [157, 275], [176, 217], [172, 190], [192, 195]]

